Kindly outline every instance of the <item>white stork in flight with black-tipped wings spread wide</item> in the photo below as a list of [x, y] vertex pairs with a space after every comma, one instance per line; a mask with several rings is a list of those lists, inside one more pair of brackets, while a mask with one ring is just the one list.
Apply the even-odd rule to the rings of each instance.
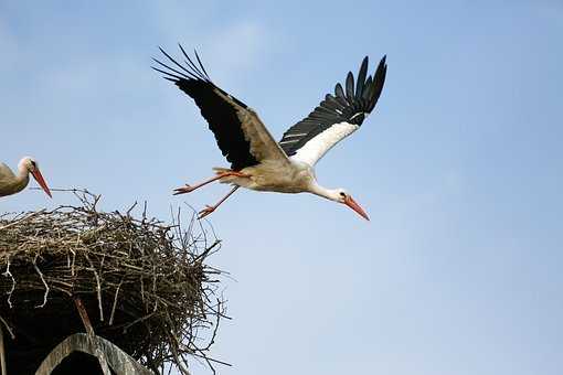
[[367, 77], [365, 56], [355, 85], [349, 72], [346, 87], [338, 83], [334, 95], [327, 94], [325, 100], [309, 116], [290, 127], [278, 143], [252, 108], [213, 84], [196, 52], [199, 66], [181, 45], [180, 50], [187, 58], [185, 65], [160, 49], [170, 63], [167, 65], [153, 58], [160, 67], [152, 68], [164, 74], [166, 79], [173, 82], [193, 98], [215, 135], [223, 156], [231, 162], [231, 168], [214, 168], [215, 176], [195, 185], [187, 184], [176, 189], [174, 195], [192, 192], [216, 180], [234, 185], [216, 204], [202, 210], [200, 218], [211, 214], [243, 186], [257, 191], [312, 193], [346, 204], [369, 219], [368, 214], [346, 190], [319, 185], [314, 167], [336, 143], [358, 130], [375, 107], [385, 82], [385, 56], [380, 61], [373, 77]]

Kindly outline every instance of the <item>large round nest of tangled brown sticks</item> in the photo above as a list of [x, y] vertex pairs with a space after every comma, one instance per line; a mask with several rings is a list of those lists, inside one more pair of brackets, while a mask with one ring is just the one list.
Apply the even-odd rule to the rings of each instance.
[[83, 332], [76, 298], [96, 334], [155, 372], [174, 366], [188, 374], [193, 356], [211, 364], [224, 318], [221, 272], [204, 264], [219, 249], [212, 231], [193, 217], [181, 229], [179, 214], [166, 225], [146, 210], [139, 218], [131, 210], [100, 212], [99, 196], [74, 194], [77, 206], [0, 215], [0, 324], [11, 336], [9, 365], [32, 373], [59, 342]]

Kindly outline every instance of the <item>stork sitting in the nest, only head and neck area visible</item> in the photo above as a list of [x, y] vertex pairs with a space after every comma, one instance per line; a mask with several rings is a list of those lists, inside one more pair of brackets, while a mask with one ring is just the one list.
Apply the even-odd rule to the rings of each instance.
[[12, 170], [4, 163], [0, 163], [0, 196], [11, 195], [21, 192], [30, 182], [30, 173], [43, 191], [50, 196], [51, 191], [46, 185], [39, 164], [35, 159], [25, 157], [18, 163], [18, 175], [13, 174]]

